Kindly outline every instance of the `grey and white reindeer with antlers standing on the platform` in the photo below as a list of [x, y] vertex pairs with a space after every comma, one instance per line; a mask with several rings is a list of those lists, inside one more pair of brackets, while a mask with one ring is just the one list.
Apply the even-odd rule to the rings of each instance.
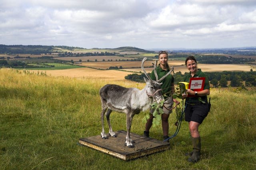
[[125, 145], [129, 148], [133, 148], [134, 141], [130, 139], [130, 129], [132, 125], [132, 118], [135, 114], [140, 113], [140, 111], [145, 111], [150, 108], [153, 100], [157, 103], [160, 103], [164, 100], [161, 87], [162, 83], [160, 83], [170, 72], [173, 71], [173, 67], [164, 77], [158, 80], [158, 76], [156, 74], [156, 64], [154, 65], [154, 74], [156, 75], [156, 81], [151, 80], [150, 76], [148, 76], [146, 70], [144, 69], [144, 63], [147, 60], [145, 57], [142, 60], [141, 68], [145, 73], [146, 77], [144, 80], [146, 82], [146, 86], [139, 90], [137, 88], [125, 88], [116, 84], [106, 84], [100, 89], [100, 97], [102, 104], [102, 112], [101, 112], [101, 123], [102, 123], [102, 139], [108, 139], [105, 131], [104, 131], [104, 113], [106, 115], [106, 119], [108, 121], [109, 127], [109, 135], [112, 137], [117, 137], [113, 132], [112, 127], [110, 125], [110, 113], [112, 111], [117, 111], [120, 113], [126, 114], [126, 141]]

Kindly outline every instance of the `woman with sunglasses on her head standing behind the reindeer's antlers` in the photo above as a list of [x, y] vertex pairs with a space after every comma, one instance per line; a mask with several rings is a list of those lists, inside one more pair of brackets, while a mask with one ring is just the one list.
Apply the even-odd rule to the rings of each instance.
[[[170, 66], [168, 64], [168, 52], [167, 51], [160, 51], [158, 55], [159, 64], [156, 67], [156, 74], [158, 75], [158, 79], [162, 78], [164, 75], [166, 75], [170, 71]], [[150, 75], [152, 80], [156, 80], [156, 76], [154, 74], [154, 70], [152, 70], [152, 73]], [[180, 104], [176, 99], [172, 98], [172, 94], [174, 93], [174, 77], [172, 74], [169, 74], [162, 80], [162, 94], [164, 95], [164, 107], [162, 108], [164, 113], [161, 115], [162, 118], [162, 129], [163, 129], [163, 139], [169, 138], [169, 122], [168, 118], [170, 113], [172, 113], [172, 105], [173, 102], [175, 102], [177, 105]], [[147, 120], [145, 125], [145, 131], [144, 136], [149, 137], [149, 130], [152, 126], [153, 121], [153, 113], [154, 109], [150, 109], [150, 118]]]

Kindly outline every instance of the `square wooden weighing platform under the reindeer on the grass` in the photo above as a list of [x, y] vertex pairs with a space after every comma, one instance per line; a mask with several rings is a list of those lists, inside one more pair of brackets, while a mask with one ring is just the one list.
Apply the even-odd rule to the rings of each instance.
[[101, 136], [97, 135], [81, 138], [79, 139], [79, 143], [123, 160], [131, 160], [140, 156], [163, 151], [170, 147], [170, 144], [167, 142], [130, 133], [130, 137], [135, 143], [134, 148], [129, 148], [124, 146], [127, 132], [120, 130], [115, 133], [117, 137], [110, 136], [108, 139], [101, 139]]

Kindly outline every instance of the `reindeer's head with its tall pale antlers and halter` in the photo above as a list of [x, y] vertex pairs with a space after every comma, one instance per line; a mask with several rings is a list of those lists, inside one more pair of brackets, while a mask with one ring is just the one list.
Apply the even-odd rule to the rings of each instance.
[[162, 100], [164, 100], [164, 97], [161, 93], [162, 89], [161, 89], [161, 81], [164, 80], [164, 78], [166, 78], [166, 76], [168, 76], [168, 74], [170, 74], [170, 72], [173, 71], [173, 67], [172, 69], [165, 75], [163, 76], [162, 78], [160, 78], [158, 80], [158, 75], [156, 74], [156, 64], [157, 64], [157, 61], [154, 65], [154, 74], [156, 76], [156, 81], [155, 80], [152, 80], [150, 78], [150, 76], [148, 76], [148, 73], [146, 72], [146, 70], [144, 69], [144, 63], [145, 61], [147, 60], [147, 58], [145, 57], [143, 60], [142, 60], [142, 63], [141, 63], [141, 69], [143, 70], [144, 74], [146, 75], [147, 78], [144, 77], [144, 80], [146, 82], [146, 93], [147, 95], [150, 97], [150, 98], [153, 98], [153, 100], [155, 100], [157, 103], [160, 103]]

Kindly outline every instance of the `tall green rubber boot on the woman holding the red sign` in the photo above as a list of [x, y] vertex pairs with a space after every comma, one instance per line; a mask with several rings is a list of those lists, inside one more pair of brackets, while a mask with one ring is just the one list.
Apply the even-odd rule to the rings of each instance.
[[192, 146], [193, 153], [188, 158], [188, 162], [198, 162], [200, 160], [200, 151], [201, 151], [201, 138], [200, 137], [192, 137]]

